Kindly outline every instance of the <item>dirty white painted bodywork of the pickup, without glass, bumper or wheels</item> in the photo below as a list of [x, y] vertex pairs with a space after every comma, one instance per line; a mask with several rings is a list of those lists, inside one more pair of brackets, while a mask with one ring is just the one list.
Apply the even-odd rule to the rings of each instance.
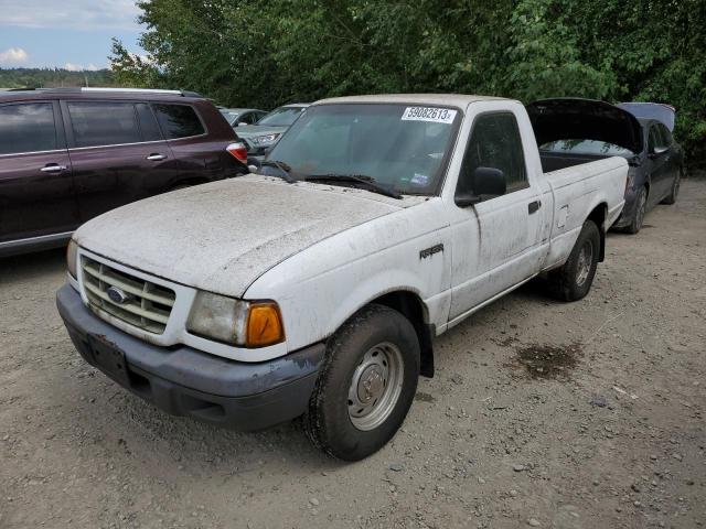
[[[613, 158], [544, 174], [532, 126], [517, 101], [397, 95], [321, 104], [351, 101], [442, 105], [464, 112], [440, 196], [396, 201], [250, 175], [106, 214], [78, 230], [79, 245], [189, 289], [277, 301], [285, 344], [227, 350], [202, 338], [197, 344], [254, 361], [315, 343], [364, 304], [398, 290], [422, 300], [426, 321], [440, 334], [542, 270], [560, 266], [595, 207], [607, 205], [607, 226], [622, 209], [625, 161]], [[517, 117], [530, 186], [459, 208], [453, 193], [472, 122], [479, 114], [499, 110]], [[533, 201], [542, 206], [530, 215]], [[439, 245], [442, 251], [422, 257]]]

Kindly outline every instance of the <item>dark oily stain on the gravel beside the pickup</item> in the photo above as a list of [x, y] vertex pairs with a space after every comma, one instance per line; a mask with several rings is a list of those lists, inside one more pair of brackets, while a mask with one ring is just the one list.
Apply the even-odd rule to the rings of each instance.
[[532, 378], [567, 379], [581, 356], [581, 344], [555, 345], [532, 344], [518, 347], [516, 364], [524, 367]]

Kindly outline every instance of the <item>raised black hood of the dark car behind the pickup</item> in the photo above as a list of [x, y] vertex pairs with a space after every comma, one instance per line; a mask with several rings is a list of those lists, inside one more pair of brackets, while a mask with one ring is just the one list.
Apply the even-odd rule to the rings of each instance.
[[527, 105], [537, 144], [558, 140], [605, 141], [642, 152], [642, 128], [635, 117], [605, 101], [542, 99]]

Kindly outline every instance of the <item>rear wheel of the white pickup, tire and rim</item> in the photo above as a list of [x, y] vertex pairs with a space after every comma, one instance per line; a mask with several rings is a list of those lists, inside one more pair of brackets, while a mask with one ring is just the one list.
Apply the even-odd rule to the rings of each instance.
[[599, 252], [598, 226], [592, 220], [586, 220], [567, 261], [563, 267], [549, 272], [552, 293], [563, 301], [578, 301], [585, 298], [593, 283]]

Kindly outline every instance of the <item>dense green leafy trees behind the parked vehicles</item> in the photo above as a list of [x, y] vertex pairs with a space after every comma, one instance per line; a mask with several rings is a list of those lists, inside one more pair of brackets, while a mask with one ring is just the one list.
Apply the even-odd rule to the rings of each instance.
[[117, 82], [271, 108], [362, 93], [651, 100], [706, 160], [706, 2], [681, 0], [145, 0]]

